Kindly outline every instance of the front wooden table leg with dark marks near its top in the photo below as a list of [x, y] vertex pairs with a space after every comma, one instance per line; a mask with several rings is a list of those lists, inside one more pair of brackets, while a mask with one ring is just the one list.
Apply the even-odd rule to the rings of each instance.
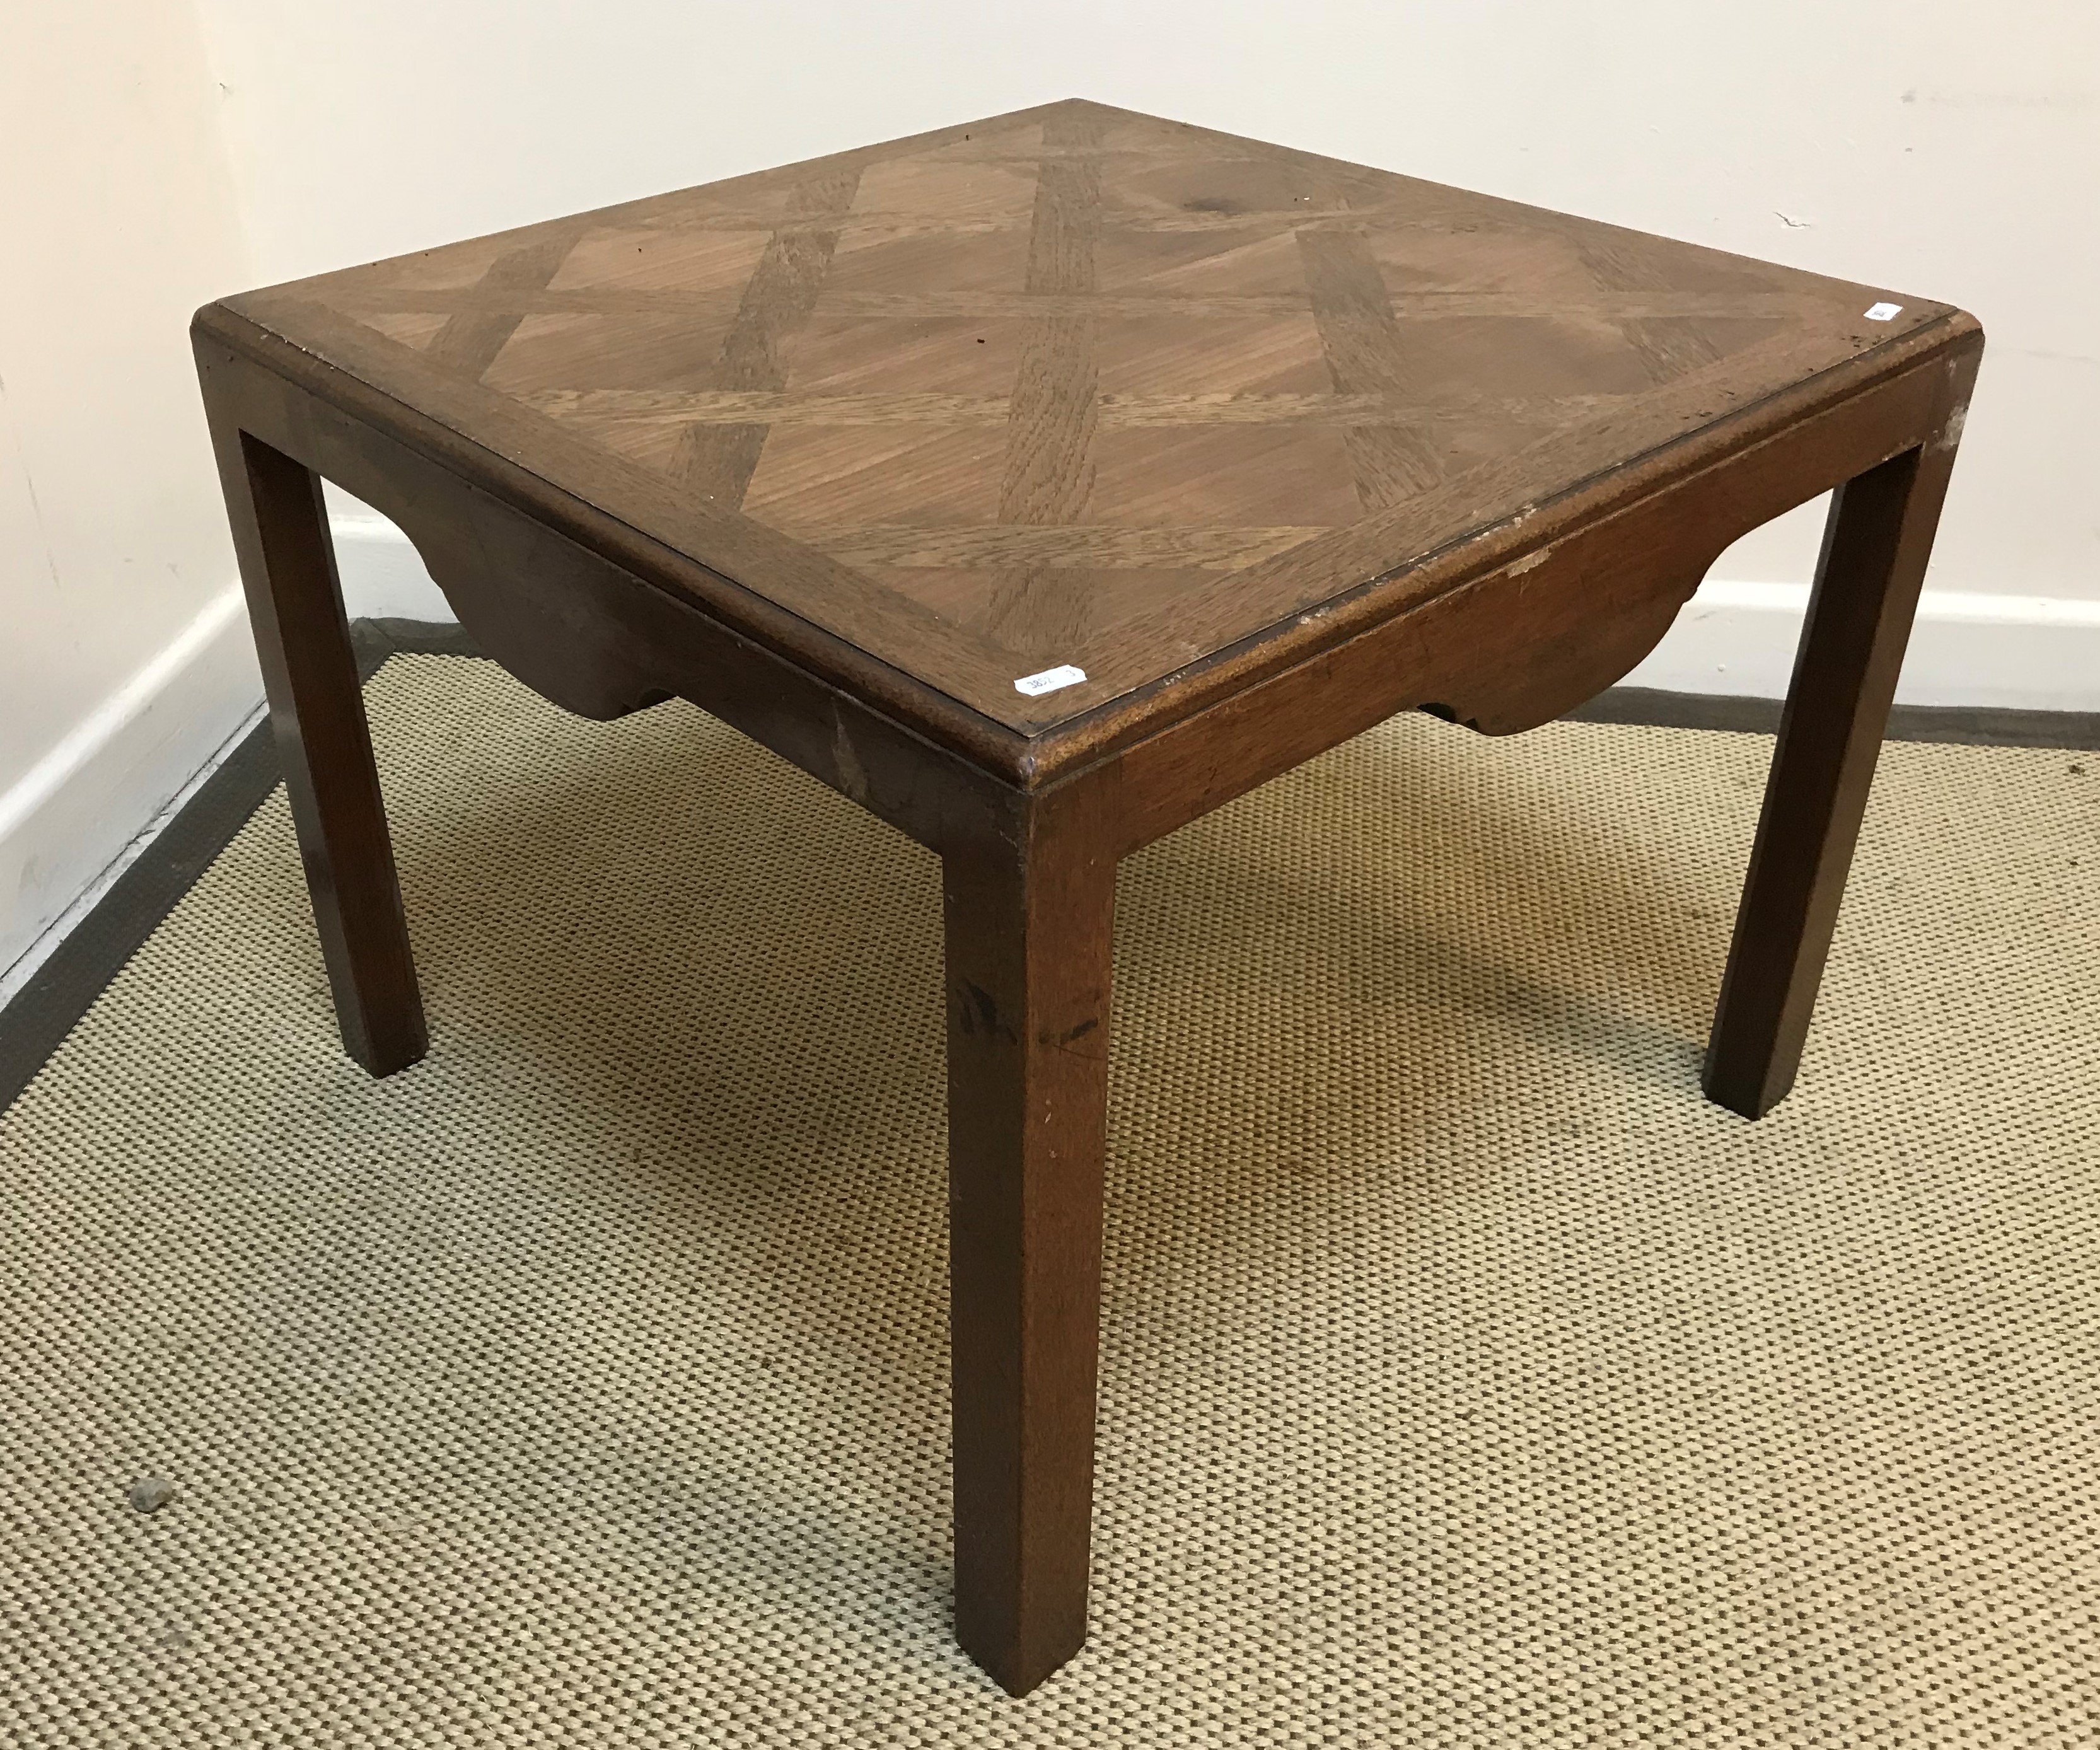
[[1025, 1695], [1086, 1641], [1115, 857], [1037, 809], [943, 899], [956, 1639]]

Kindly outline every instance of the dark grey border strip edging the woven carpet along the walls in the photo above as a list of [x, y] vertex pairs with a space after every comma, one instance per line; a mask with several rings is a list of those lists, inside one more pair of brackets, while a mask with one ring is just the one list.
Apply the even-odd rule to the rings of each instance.
[[[395, 653], [481, 653], [460, 626], [422, 620], [359, 620], [351, 626], [351, 639], [357, 645], [357, 672], [365, 681]], [[1779, 729], [1779, 700], [1613, 687], [1569, 716], [1577, 723], [1772, 733]], [[2100, 712], [1896, 706], [1888, 733], [1898, 742], [2100, 750]], [[74, 1023], [275, 786], [277, 748], [265, 721], [197, 786], [197, 794], [160, 838], [118, 876], [109, 893], [0, 1011], [0, 1113], [29, 1086]]]

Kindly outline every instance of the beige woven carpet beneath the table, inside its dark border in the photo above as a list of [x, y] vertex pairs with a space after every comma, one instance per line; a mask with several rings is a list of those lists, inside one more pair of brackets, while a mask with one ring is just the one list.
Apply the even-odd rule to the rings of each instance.
[[932, 857], [687, 706], [372, 706], [430, 1059], [336, 1048], [277, 798], [0, 1120], [8, 1746], [2096, 1742], [2100, 758], [1888, 750], [1756, 1126], [1760, 737], [1405, 718], [1136, 857], [1010, 1702]]

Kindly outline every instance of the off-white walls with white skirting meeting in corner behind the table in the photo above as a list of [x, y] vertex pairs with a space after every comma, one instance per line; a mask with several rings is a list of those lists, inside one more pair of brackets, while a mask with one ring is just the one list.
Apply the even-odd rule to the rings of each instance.
[[[1067, 95], [1974, 309], [1991, 351], [1905, 693], [2100, 708], [2092, 0], [86, 0], [10, 19], [0, 80], [4, 235], [38, 263], [0, 288], [0, 590], [27, 628], [0, 798], [132, 710], [231, 580], [193, 303]], [[346, 506], [338, 532], [353, 611], [441, 611], [386, 525]], [[1814, 540], [1810, 513], [1732, 548], [1636, 679], [1777, 691]], [[223, 716], [181, 704], [166, 746], [202, 758]], [[65, 855], [101, 855], [116, 794]], [[0, 964], [67, 878], [10, 899]]]

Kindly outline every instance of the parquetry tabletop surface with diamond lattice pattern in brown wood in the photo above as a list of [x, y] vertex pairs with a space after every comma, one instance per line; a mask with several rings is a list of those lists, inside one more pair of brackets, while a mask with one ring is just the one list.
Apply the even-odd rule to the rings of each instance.
[[235, 307], [1040, 725], [1940, 311], [1877, 296], [1063, 103]]

